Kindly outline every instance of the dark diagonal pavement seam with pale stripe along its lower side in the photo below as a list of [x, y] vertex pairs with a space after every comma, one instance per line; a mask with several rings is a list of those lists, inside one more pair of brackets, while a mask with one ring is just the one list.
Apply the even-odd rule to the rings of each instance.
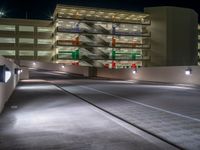
[[64, 87], [61, 87], [57, 84], [52, 83], [53, 85], [55, 85], [55, 87], [57, 87], [59, 90], [61, 90], [64, 93], [68, 93], [71, 94], [73, 96], [75, 96], [76, 98], [78, 98], [79, 100], [82, 100], [84, 102], [86, 102], [89, 108], [91, 108], [92, 110], [96, 111], [97, 113], [100, 113], [101, 115], [103, 115], [104, 117], [110, 119], [111, 121], [115, 122], [116, 124], [118, 124], [119, 126], [125, 128], [126, 130], [130, 131], [133, 134], [136, 134], [138, 136], [140, 136], [141, 138], [147, 140], [150, 143], [155, 144], [157, 147], [163, 149], [163, 150], [181, 150], [182, 148], [178, 145], [176, 145], [175, 143], [172, 143], [160, 136], [157, 136], [154, 133], [151, 133], [148, 130], [145, 130], [133, 123], [128, 122], [127, 120], [124, 120], [123, 118], [116, 116], [115, 114], [105, 110], [104, 108], [101, 108], [91, 102], [89, 102], [87, 99], [82, 98], [81, 96], [74, 94], [73, 92], [70, 92], [68, 90], [66, 90]]

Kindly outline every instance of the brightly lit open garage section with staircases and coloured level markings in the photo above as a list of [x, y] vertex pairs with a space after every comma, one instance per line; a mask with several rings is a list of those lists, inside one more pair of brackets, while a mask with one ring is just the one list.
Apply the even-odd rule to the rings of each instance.
[[58, 62], [122, 68], [149, 60], [148, 14], [58, 5], [54, 22]]

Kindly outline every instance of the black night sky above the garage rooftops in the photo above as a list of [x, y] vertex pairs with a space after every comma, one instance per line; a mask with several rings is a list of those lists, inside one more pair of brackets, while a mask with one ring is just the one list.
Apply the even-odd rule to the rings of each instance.
[[25, 18], [26, 12], [31, 19], [48, 19], [57, 3], [132, 11], [143, 11], [150, 6], [178, 6], [194, 9], [200, 14], [199, 0], [0, 0], [0, 10], [7, 17]]

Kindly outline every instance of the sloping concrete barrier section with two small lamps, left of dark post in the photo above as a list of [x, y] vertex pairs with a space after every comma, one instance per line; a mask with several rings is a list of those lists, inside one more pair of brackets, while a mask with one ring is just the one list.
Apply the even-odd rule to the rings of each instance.
[[89, 76], [89, 68], [82, 67], [82, 66], [68, 66], [64, 65], [63, 68], [62, 64], [56, 63], [47, 63], [47, 62], [39, 62], [39, 61], [20, 61], [20, 66], [25, 66], [28, 68], [35, 68], [35, 69], [45, 69], [45, 70], [53, 70], [53, 71], [63, 71], [69, 72], [74, 74], [79, 74], [88, 77]]

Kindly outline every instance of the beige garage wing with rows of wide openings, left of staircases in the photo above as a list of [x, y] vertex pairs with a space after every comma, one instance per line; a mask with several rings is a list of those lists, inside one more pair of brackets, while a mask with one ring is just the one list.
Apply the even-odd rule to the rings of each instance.
[[0, 55], [16, 62], [51, 61], [52, 32], [51, 21], [0, 18]]

